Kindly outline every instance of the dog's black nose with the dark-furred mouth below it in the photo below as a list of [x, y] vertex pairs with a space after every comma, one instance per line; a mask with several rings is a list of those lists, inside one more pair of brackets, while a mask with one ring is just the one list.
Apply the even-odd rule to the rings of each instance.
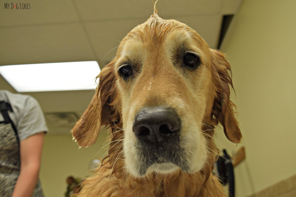
[[138, 139], [137, 153], [141, 155], [138, 161], [140, 175], [144, 175], [150, 166], [155, 165], [160, 171], [172, 170], [176, 166], [188, 171], [189, 166], [184, 159], [185, 151], [180, 146], [181, 119], [173, 109], [141, 109], [134, 119], [133, 133]]

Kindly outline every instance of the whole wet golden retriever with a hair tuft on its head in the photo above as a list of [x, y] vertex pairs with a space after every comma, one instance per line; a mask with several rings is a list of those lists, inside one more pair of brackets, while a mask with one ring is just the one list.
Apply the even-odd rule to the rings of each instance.
[[157, 13], [121, 41], [72, 130], [81, 147], [110, 128], [108, 156], [80, 197], [225, 196], [212, 175], [214, 128], [239, 143], [231, 68], [187, 25]]

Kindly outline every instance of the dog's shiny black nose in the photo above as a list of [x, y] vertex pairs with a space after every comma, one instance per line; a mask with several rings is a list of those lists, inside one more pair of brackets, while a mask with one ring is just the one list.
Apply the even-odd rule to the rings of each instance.
[[145, 144], [158, 146], [180, 129], [180, 118], [169, 108], [151, 107], [144, 108], [133, 122], [133, 132]]

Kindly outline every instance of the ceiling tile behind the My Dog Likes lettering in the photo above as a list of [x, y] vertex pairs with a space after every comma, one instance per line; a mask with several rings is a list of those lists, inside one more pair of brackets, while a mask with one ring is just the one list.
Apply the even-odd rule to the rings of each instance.
[[[11, 9], [11, 2], [0, 0], [0, 27], [15, 25], [36, 25], [46, 23], [77, 22], [78, 14], [70, 0], [51, 1], [14, 1], [19, 9]], [[9, 3], [10, 9], [4, 8], [4, 3]], [[22, 3], [30, 3], [30, 9], [21, 9]]]

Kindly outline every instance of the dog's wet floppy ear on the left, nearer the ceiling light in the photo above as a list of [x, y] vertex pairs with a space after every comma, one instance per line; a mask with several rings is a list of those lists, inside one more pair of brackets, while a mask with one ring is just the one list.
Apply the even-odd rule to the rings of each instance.
[[99, 85], [96, 94], [71, 131], [81, 147], [88, 147], [96, 142], [101, 126], [120, 121], [114, 64], [115, 60], [111, 61], [97, 76]]

